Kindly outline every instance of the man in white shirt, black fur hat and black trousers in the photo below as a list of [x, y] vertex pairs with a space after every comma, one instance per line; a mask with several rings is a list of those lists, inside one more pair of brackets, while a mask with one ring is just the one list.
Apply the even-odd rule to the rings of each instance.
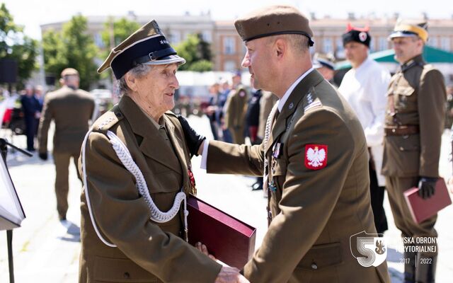
[[384, 113], [386, 91], [389, 86], [389, 71], [369, 58], [371, 37], [367, 28], [348, 25], [343, 34], [345, 57], [351, 63], [350, 69], [341, 81], [338, 91], [348, 100], [359, 117], [365, 131], [369, 151], [369, 178], [371, 204], [377, 233], [388, 229], [384, 211], [385, 178], [381, 175]]

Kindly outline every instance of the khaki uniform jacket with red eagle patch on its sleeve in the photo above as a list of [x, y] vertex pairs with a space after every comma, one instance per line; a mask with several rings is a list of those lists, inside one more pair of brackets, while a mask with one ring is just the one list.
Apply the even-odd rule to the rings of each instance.
[[[326, 146], [319, 170], [306, 165], [311, 145]], [[294, 88], [266, 146], [210, 141], [207, 171], [261, 175], [264, 156], [270, 224], [243, 274], [253, 283], [389, 282], [386, 262], [362, 267], [350, 251], [352, 235], [376, 233], [367, 142], [348, 103], [318, 71]]]

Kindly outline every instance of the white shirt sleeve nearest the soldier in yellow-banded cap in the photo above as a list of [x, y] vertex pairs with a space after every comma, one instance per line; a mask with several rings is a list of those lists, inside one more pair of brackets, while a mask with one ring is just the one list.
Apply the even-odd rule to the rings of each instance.
[[385, 109], [387, 104], [387, 88], [389, 87], [390, 74], [382, 70], [379, 77], [370, 80], [368, 89], [371, 95], [371, 107], [374, 114], [374, 120], [371, 125], [364, 129], [368, 146], [379, 146], [384, 141], [384, 120]]

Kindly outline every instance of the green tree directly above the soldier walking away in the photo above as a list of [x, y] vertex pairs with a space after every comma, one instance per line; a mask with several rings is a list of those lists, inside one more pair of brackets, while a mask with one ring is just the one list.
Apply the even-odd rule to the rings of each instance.
[[86, 30], [86, 18], [73, 16], [71, 21], [63, 25], [62, 32], [50, 30], [42, 36], [42, 49], [48, 74], [59, 77], [64, 68], [74, 68], [80, 74], [80, 87], [89, 89], [91, 83], [99, 78], [95, 62], [98, 47]]

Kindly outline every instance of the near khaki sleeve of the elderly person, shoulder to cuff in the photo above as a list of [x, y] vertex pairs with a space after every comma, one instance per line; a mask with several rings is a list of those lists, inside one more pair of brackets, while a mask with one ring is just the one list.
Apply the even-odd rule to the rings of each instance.
[[214, 282], [221, 265], [149, 220], [134, 178], [104, 134], [93, 132], [88, 139], [86, 173], [85, 193], [96, 224], [110, 243], [164, 282]]

